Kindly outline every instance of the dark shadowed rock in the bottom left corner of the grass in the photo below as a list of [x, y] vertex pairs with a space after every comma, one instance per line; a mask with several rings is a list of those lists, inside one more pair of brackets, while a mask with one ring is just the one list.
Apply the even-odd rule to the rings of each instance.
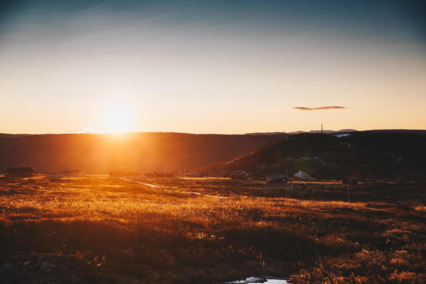
[[6, 260], [0, 268], [1, 284], [82, 283], [84, 277], [81, 264], [69, 255], [19, 255]]

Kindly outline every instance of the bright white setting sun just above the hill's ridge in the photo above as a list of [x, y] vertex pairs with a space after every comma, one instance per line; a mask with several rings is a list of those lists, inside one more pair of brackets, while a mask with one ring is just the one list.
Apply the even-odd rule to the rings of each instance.
[[102, 109], [103, 128], [109, 133], [130, 132], [135, 119], [133, 107], [123, 100], [106, 102]]

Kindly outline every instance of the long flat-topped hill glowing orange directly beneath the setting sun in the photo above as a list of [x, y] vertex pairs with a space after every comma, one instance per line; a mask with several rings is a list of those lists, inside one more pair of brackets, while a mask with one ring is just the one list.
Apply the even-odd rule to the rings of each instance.
[[36, 172], [75, 168], [82, 173], [192, 169], [223, 161], [286, 135], [217, 135], [173, 132], [124, 134], [0, 135], [0, 170], [35, 164]]

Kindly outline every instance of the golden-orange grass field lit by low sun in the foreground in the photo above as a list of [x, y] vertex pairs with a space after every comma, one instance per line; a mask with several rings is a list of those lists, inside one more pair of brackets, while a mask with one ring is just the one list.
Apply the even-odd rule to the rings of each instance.
[[256, 181], [148, 182], [162, 187], [0, 178], [0, 265], [44, 252], [77, 255], [88, 282], [426, 282], [424, 185], [360, 184], [348, 203], [333, 181], [294, 186], [290, 198]]

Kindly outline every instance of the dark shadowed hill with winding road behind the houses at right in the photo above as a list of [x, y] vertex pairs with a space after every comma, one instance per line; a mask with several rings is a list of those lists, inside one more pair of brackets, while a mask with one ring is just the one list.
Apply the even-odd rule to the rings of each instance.
[[[372, 173], [377, 180], [383, 176], [383, 180], [389, 181], [398, 176], [401, 181], [421, 181], [426, 170], [423, 158], [426, 135], [368, 131], [353, 132], [344, 138], [315, 133], [290, 137], [235, 161], [224, 161], [200, 170], [209, 171], [226, 163], [227, 173], [243, 169], [259, 178], [276, 172], [288, 172], [291, 176], [302, 170], [318, 179], [366, 178]], [[288, 157], [296, 160], [287, 161]], [[259, 164], [266, 164], [268, 168], [258, 168]]]

